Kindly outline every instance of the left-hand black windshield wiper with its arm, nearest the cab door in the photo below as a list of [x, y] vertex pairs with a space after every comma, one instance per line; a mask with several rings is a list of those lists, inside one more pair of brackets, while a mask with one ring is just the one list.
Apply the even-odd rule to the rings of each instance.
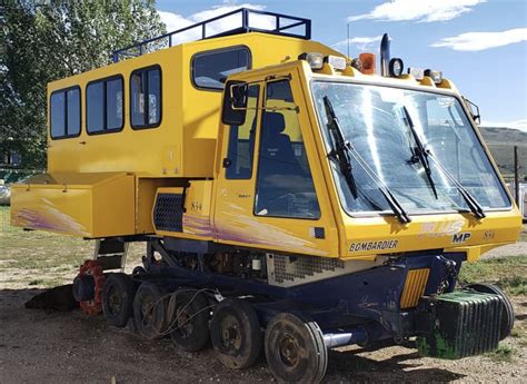
[[345, 139], [342, 129], [340, 128], [340, 124], [338, 122], [337, 115], [335, 114], [334, 107], [329, 98], [325, 96], [322, 99], [324, 106], [326, 108], [326, 116], [328, 117], [328, 122], [326, 124], [326, 127], [328, 128], [332, 141], [332, 149], [328, 154], [328, 157], [339, 165], [340, 171], [344, 174], [351, 195], [354, 195], [354, 198], [357, 198], [358, 195], [349, 156], [351, 156], [365, 170], [365, 173], [371, 178], [371, 180], [374, 180], [377, 188], [379, 188], [381, 194], [385, 196], [386, 201], [388, 201], [388, 205], [390, 206], [391, 210], [397, 216], [397, 219], [402, 224], [410, 223], [411, 219], [400, 205], [399, 200], [391, 194], [391, 191], [377, 176], [377, 174], [368, 166], [368, 164], [360, 156], [360, 154], [354, 148], [351, 142]]

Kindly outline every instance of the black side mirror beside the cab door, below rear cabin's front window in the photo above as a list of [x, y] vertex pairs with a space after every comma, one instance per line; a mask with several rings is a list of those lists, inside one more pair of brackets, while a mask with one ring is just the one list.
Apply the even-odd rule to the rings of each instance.
[[249, 85], [245, 81], [227, 81], [223, 92], [221, 122], [228, 126], [241, 126], [246, 122]]

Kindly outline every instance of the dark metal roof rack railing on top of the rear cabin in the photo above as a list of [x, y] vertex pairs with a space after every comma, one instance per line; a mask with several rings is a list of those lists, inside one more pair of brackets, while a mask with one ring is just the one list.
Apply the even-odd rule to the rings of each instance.
[[[241, 14], [241, 26], [236, 27], [233, 29], [229, 29], [226, 31], [221, 31], [219, 33], [212, 35], [212, 36], [207, 36], [207, 26], [210, 24], [211, 22], [231, 17], [233, 14]], [[275, 29], [262, 29], [262, 28], [256, 28], [256, 27], [250, 27], [250, 14], [262, 14], [262, 16], [271, 16], [275, 17]], [[287, 19], [289, 21], [296, 21], [290, 24], [284, 26], [281, 23], [282, 19]], [[302, 27], [305, 28], [304, 33], [291, 33], [287, 32], [287, 30], [290, 30], [291, 28], [296, 27]], [[113, 62], [118, 62], [121, 57], [137, 57], [141, 56], [145, 52], [145, 48], [152, 43], [152, 42], [162, 42], [162, 40], [168, 39], [168, 47], [172, 47], [172, 37], [182, 32], [186, 32], [188, 30], [199, 28], [201, 27], [201, 39], [210, 39], [210, 38], [217, 38], [217, 37], [222, 37], [222, 36], [229, 36], [229, 35], [238, 35], [238, 33], [247, 33], [247, 32], [264, 32], [264, 33], [271, 33], [271, 35], [279, 35], [279, 36], [287, 36], [287, 37], [295, 37], [295, 38], [300, 38], [305, 40], [309, 40], [311, 38], [311, 20], [309, 19], [304, 19], [299, 18], [296, 16], [289, 16], [289, 14], [281, 14], [281, 13], [274, 13], [274, 12], [267, 12], [267, 11], [258, 11], [249, 8], [240, 8], [233, 11], [230, 11], [228, 13], [223, 13], [220, 16], [217, 16], [212, 19], [208, 19], [205, 21], [200, 21], [196, 24], [188, 26], [181, 29], [178, 29], [173, 32], [168, 32], [161, 36], [157, 36], [151, 39], [146, 39], [139, 42], [136, 42], [135, 45], [128, 46], [126, 48], [118, 49], [113, 51], [112, 53], [112, 60]], [[133, 50], [132, 52], [130, 52]]]

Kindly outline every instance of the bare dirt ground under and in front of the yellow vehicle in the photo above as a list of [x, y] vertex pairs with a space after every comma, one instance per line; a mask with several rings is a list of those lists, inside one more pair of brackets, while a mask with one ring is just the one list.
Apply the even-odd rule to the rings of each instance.
[[[2, 383], [255, 383], [274, 381], [265, 360], [247, 371], [223, 367], [211, 349], [178, 351], [169, 338], [143, 342], [131, 331], [80, 311], [26, 309], [36, 289], [0, 291], [0, 382]], [[527, 296], [516, 297], [517, 322], [527, 318]], [[521, 324], [517, 324], [517, 326]], [[525, 327], [525, 324], [523, 325]], [[496, 356], [460, 361], [422, 358], [407, 347], [375, 352], [331, 351], [325, 382], [525, 382], [527, 352], [521, 339], [510, 360]]]

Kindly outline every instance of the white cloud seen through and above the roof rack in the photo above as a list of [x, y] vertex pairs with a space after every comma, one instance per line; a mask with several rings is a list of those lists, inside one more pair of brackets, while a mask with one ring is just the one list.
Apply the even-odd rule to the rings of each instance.
[[[178, 29], [195, 24], [200, 21], [212, 19], [217, 16], [229, 13], [240, 8], [249, 8], [253, 10], [264, 10], [265, 6], [251, 4], [251, 3], [241, 3], [235, 4], [231, 2], [223, 2], [222, 6], [216, 6], [210, 9], [206, 9], [200, 12], [196, 12], [190, 16], [181, 16], [178, 13], [158, 11], [161, 21], [167, 26], [167, 32], [172, 32]], [[274, 29], [275, 19], [269, 16], [251, 13], [249, 16], [249, 24], [255, 28], [261, 29]], [[213, 21], [207, 26], [207, 36], [213, 36], [222, 31], [241, 27], [241, 13], [232, 14], [221, 20]], [[201, 27], [189, 29], [188, 31], [178, 33], [172, 37], [172, 45], [181, 43], [185, 41], [197, 40], [201, 38]]]

